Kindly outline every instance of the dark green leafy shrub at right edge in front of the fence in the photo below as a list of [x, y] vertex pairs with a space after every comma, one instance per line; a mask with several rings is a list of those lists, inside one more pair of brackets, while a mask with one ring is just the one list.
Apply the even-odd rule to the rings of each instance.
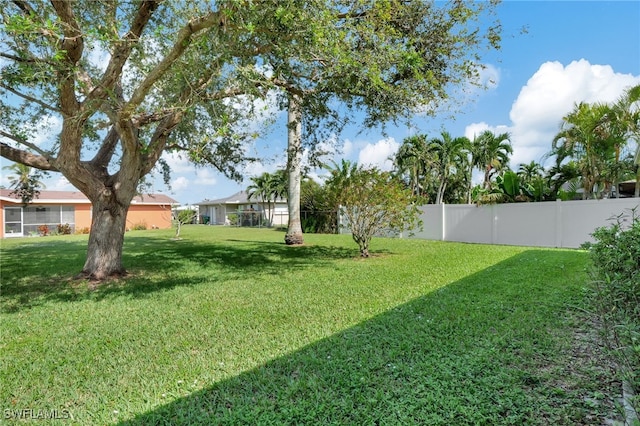
[[[630, 223], [625, 223], [630, 219]], [[605, 327], [605, 338], [623, 379], [638, 395], [630, 401], [640, 412], [640, 216], [620, 215], [598, 228], [589, 244], [593, 263], [591, 299]]]

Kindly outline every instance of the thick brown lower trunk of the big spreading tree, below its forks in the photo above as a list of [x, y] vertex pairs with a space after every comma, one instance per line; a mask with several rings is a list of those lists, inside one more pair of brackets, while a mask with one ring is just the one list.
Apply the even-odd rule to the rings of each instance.
[[81, 275], [96, 281], [125, 275], [122, 246], [129, 204], [122, 205], [115, 197], [91, 201], [91, 233]]

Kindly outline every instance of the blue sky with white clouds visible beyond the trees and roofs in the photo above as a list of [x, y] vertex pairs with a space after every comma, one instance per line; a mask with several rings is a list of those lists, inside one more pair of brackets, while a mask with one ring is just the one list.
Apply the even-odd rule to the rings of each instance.
[[[498, 7], [498, 17], [504, 37], [502, 49], [485, 57], [486, 78], [495, 82], [489, 90], [477, 93], [454, 119], [416, 117], [415, 127], [392, 128], [386, 136], [375, 130], [358, 135], [354, 123], [337, 138], [339, 152], [333, 159], [388, 169], [387, 158], [412, 134], [435, 137], [446, 130], [453, 136], [473, 137], [489, 129], [511, 133], [510, 165], [516, 168], [543, 159], [562, 116], [576, 102], [611, 102], [625, 88], [640, 84], [640, 1], [512, 0]], [[158, 178], [153, 190], [182, 204], [227, 197], [245, 189], [251, 176], [283, 167], [285, 147], [286, 128], [280, 120], [251, 149], [270, 161], [250, 165], [242, 183], [213, 168], [196, 169], [178, 156], [166, 156], [173, 169], [171, 189]], [[7, 185], [5, 175], [0, 183]], [[55, 174], [46, 184], [52, 190], [73, 189]]]

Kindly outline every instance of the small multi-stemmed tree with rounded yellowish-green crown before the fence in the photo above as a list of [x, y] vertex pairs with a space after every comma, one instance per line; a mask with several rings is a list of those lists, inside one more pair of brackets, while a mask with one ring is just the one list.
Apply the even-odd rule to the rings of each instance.
[[359, 167], [344, 180], [340, 212], [362, 257], [374, 235], [394, 235], [422, 226], [412, 194], [390, 173]]

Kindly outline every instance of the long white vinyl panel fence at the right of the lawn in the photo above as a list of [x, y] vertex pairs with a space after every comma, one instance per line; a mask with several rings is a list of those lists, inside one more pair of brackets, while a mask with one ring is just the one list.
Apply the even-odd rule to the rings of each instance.
[[494, 204], [441, 204], [420, 207], [423, 230], [414, 238], [468, 243], [577, 248], [593, 242], [591, 233], [631, 209], [640, 199]]

